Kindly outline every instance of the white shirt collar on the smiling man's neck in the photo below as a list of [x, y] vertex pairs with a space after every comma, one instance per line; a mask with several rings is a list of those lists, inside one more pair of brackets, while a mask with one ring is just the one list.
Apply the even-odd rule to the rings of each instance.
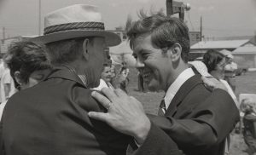
[[180, 89], [180, 87], [185, 83], [189, 78], [193, 77], [195, 73], [191, 68], [188, 68], [181, 72], [175, 81], [170, 85], [169, 89], [166, 91], [166, 96], [164, 98], [165, 104], [166, 104], [166, 109], [170, 105], [173, 97], [176, 95], [177, 90]]

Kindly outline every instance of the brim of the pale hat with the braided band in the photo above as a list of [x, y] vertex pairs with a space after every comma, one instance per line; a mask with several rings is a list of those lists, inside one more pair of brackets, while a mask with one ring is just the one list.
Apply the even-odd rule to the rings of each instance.
[[72, 30], [65, 32], [55, 32], [44, 36], [33, 37], [30, 41], [34, 43], [53, 43], [56, 41], [76, 38], [76, 37], [105, 37], [106, 44], [108, 47], [116, 46], [121, 43], [120, 37], [114, 32], [108, 31], [83, 31], [83, 30]]

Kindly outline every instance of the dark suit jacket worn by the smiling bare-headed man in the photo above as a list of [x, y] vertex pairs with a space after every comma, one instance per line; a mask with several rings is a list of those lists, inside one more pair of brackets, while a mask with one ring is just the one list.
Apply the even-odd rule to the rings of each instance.
[[[175, 143], [172, 142], [175, 141], [185, 154], [221, 155], [224, 153], [224, 140], [239, 120], [239, 113], [228, 93], [221, 89], [208, 90], [202, 83], [201, 76], [195, 75], [177, 91], [165, 117], [148, 117], [155, 128], [149, 132], [148, 137], [157, 138], [154, 139], [154, 144], [146, 140], [137, 152], [151, 149], [151, 154], [168, 154], [163, 151], [164, 148], [157, 148], [166, 146], [163, 143], [169, 138], [172, 148], [175, 149]], [[165, 131], [166, 135], [158, 129]], [[156, 135], [157, 132], [161, 134]]]

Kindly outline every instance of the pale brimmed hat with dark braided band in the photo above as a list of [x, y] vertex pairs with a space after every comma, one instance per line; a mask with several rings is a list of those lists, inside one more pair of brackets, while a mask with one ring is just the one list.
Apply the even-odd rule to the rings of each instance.
[[55, 10], [44, 17], [44, 36], [32, 42], [52, 43], [76, 37], [105, 37], [107, 46], [118, 45], [120, 37], [105, 31], [102, 14], [96, 6], [76, 4]]

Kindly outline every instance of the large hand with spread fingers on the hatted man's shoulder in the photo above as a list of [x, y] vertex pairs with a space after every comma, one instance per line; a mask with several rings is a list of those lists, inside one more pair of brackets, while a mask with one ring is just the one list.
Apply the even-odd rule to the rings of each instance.
[[113, 129], [133, 136], [138, 144], [142, 144], [151, 125], [143, 105], [121, 89], [103, 88], [102, 94], [96, 91], [91, 93], [92, 97], [108, 109], [108, 112], [89, 112], [89, 117], [108, 123]]

